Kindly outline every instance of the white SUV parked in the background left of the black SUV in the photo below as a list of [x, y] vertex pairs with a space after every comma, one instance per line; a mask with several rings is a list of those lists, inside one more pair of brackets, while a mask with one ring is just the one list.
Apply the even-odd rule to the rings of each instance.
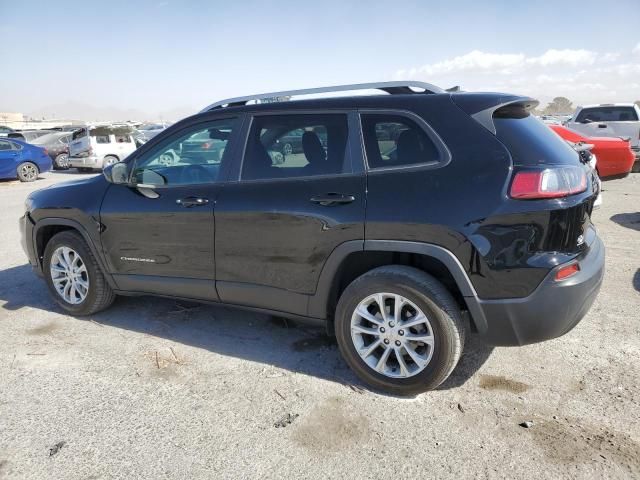
[[73, 132], [69, 144], [69, 167], [81, 172], [102, 170], [124, 160], [136, 149], [133, 130], [126, 126], [96, 125]]

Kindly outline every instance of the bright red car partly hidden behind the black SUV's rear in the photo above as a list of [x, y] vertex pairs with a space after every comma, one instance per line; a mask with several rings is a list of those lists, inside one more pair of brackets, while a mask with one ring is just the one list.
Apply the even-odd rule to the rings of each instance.
[[565, 140], [593, 145], [591, 152], [597, 158], [596, 170], [601, 178], [622, 178], [629, 175], [635, 157], [631, 151], [631, 144], [627, 140], [615, 137], [585, 137], [562, 125], [549, 125], [549, 127]]

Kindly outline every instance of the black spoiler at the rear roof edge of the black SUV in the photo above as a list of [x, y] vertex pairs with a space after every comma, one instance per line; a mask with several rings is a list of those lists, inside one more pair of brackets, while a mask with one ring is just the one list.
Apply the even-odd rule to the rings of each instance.
[[540, 103], [531, 97], [487, 93], [452, 95], [451, 98], [458, 107], [494, 135], [495, 117], [524, 118]]

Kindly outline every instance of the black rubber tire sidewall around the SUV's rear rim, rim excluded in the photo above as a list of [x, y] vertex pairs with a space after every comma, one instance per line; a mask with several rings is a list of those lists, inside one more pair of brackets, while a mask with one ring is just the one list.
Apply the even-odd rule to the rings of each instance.
[[[369, 367], [356, 351], [351, 339], [351, 316], [358, 304], [374, 293], [395, 293], [402, 295], [429, 319], [434, 336], [433, 355], [427, 367], [417, 375], [408, 378], [389, 378]], [[343, 301], [344, 299], [344, 301]], [[450, 356], [454, 355], [448, 335], [451, 333], [451, 319], [447, 307], [439, 305], [429, 292], [410, 278], [380, 275], [354, 282], [344, 291], [338, 304], [335, 318], [338, 346], [345, 360], [355, 373], [374, 388], [398, 395], [412, 395], [437, 387], [449, 374]]]

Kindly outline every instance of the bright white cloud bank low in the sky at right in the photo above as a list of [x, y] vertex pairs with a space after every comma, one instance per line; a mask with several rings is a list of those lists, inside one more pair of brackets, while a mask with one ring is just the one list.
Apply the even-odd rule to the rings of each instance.
[[[640, 54], [640, 43], [633, 52]], [[640, 63], [629, 53], [549, 49], [534, 55], [473, 50], [398, 70], [393, 78], [521, 93], [542, 102], [561, 95], [574, 103], [599, 103], [637, 100], [640, 92], [633, 85], [639, 76]]]

